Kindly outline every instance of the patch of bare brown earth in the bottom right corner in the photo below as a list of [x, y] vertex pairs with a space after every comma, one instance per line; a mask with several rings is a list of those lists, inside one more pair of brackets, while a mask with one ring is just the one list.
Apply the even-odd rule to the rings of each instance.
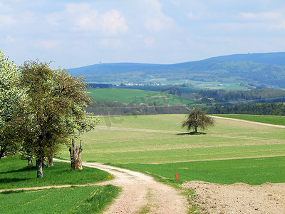
[[195, 191], [192, 205], [201, 213], [285, 213], [285, 183], [232, 185], [192, 180], [183, 188]]

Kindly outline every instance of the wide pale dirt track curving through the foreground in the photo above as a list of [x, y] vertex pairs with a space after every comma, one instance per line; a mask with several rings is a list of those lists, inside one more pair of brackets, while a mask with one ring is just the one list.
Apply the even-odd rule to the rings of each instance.
[[113, 180], [96, 185], [112, 184], [122, 188], [115, 203], [104, 213], [141, 213], [142, 210], [149, 210], [149, 213], [187, 213], [187, 198], [180, 195], [178, 190], [158, 183], [150, 176], [101, 163], [83, 165], [105, 170], [115, 176]]

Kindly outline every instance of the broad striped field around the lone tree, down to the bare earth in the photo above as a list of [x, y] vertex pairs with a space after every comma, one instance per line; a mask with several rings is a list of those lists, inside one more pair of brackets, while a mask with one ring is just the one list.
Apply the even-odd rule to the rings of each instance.
[[[252, 184], [269, 180], [284, 182], [281, 179], [285, 177], [284, 128], [218, 118], [214, 128], [204, 131], [207, 134], [190, 136], [181, 128], [184, 119], [184, 115], [102, 117], [98, 128], [82, 136], [82, 158], [90, 162], [125, 164], [121, 166], [170, 179], [175, 178], [175, 172], [179, 172], [182, 180]], [[61, 158], [68, 159], [67, 150], [63, 151]], [[261, 161], [262, 158], [266, 158], [266, 161]], [[267, 162], [272, 163], [268, 165], [269, 168], [275, 166], [278, 170], [268, 173]], [[190, 166], [198, 163], [203, 165], [204, 172], [195, 173]], [[249, 163], [249, 167], [240, 167], [241, 170], [230, 167], [242, 166], [243, 163]], [[204, 167], [207, 165], [211, 167]], [[251, 173], [254, 167], [250, 168], [250, 165], [258, 165], [257, 171], [264, 175], [259, 175], [260, 180], [256, 180], [257, 174]], [[162, 168], [171, 171], [170, 175], [162, 172]], [[212, 172], [214, 168], [224, 169], [227, 175], [219, 173], [221, 170]], [[235, 170], [239, 176], [232, 173]], [[249, 175], [242, 179], [244, 170]], [[217, 175], [211, 176], [212, 173]]]

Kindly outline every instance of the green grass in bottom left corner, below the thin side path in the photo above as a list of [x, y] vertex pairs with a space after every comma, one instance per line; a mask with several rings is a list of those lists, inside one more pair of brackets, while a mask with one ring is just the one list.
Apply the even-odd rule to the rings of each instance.
[[0, 193], [0, 213], [100, 213], [119, 193], [113, 185]]

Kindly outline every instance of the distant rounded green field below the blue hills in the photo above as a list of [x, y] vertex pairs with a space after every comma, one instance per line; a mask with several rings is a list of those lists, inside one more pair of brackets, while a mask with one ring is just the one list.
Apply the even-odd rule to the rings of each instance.
[[188, 104], [194, 101], [182, 98], [180, 96], [171, 95], [168, 93], [155, 92], [155, 91], [143, 91], [134, 89], [88, 89], [89, 95], [96, 101], [119, 101], [123, 103], [157, 103], [157, 104], [169, 104], [172, 106], [175, 103]]

